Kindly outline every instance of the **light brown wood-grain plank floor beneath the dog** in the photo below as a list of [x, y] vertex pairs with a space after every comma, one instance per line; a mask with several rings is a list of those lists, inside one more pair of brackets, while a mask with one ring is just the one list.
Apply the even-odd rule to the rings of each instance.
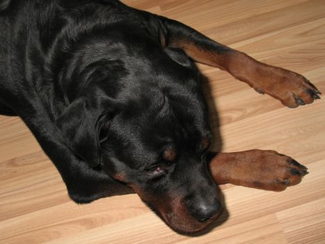
[[[124, 2], [302, 73], [325, 93], [324, 0]], [[225, 185], [228, 219], [203, 235], [182, 236], [137, 195], [74, 204], [24, 123], [0, 116], [0, 243], [325, 243], [325, 97], [288, 109], [228, 73], [199, 67], [221, 135], [214, 148], [291, 155], [310, 171], [299, 185], [280, 193]]]

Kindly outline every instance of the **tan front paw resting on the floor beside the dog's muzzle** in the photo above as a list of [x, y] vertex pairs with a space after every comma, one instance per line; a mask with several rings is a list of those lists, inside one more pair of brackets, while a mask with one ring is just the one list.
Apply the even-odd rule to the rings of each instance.
[[262, 190], [285, 190], [308, 174], [307, 168], [276, 151], [217, 153], [209, 162], [214, 181]]

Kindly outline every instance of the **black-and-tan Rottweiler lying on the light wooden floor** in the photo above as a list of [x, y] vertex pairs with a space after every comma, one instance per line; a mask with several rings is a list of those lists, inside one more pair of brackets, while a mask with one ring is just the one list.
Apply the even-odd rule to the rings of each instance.
[[220, 215], [217, 184], [284, 190], [307, 174], [274, 151], [210, 153], [194, 61], [287, 107], [319, 99], [302, 75], [120, 1], [0, 1], [0, 114], [22, 118], [73, 201], [136, 192], [186, 234]]

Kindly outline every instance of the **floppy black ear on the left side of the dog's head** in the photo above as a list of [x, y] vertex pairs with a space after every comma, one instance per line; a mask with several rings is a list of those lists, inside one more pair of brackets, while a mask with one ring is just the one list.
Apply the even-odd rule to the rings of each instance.
[[99, 121], [103, 109], [92, 107], [79, 98], [58, 117], [56, 125], [74, 153], [83, 158], [90, 167], [100, 164]]

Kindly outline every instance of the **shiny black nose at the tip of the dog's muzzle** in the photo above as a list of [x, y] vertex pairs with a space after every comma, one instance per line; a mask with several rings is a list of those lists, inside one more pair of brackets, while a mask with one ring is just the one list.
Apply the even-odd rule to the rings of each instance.
[[221, 210], [222, 208], [219, 201], [214, 201], [213, 204], [199, 204], [192, 213], [198, 221], [207, 222], [216, 217]]

